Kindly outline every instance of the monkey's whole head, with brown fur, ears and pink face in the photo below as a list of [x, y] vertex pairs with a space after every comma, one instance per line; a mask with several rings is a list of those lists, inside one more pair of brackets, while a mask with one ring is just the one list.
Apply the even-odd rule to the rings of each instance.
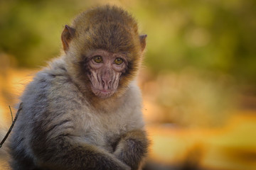
[[61, 40], [68, 72], [93, 99], [125, 93], [137, 76], [146, 45], [134, 18], [110, 6], [81, 13], [72, 27], [65, 26]]

